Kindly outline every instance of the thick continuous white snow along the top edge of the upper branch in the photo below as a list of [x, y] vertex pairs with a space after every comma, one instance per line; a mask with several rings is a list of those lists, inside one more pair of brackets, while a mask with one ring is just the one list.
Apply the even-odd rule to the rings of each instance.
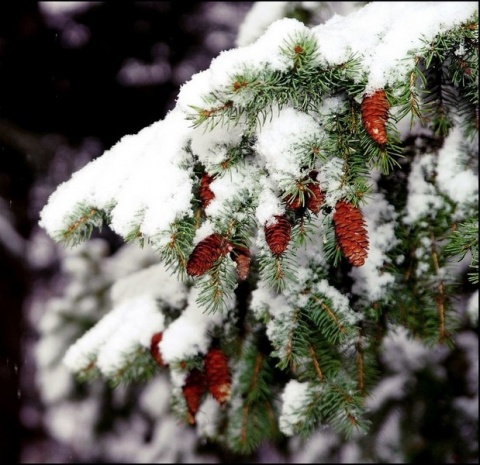
[[[222, 88], [232, 84], [234, 73], [265, 67], [286, 71], [293, 63], [282, 49], [286, 41], [303, 35], [317, 41], [320, 62], [331, 65], [351, 54], [363, 56], [363, 71], [370, 76], [367, 87], [384, 87], [398, 79], [401, 63], [405, 69], [410, 66], [405, 60], [409, 50], [421, 47], [422, 39], [432, 39], [468, 19], [476, 9], [476, 2], [372, 2], [346, 17], [334, 15], [312, 29], [292, 18], [279, 19], [254, 43], [222, 52], [208, 70], [194, 75], [180, 88], [177, 106], [164, 120], [125, 136], [61, 184], [41, 211], [39, 224], [51, 237], [58, 236], [70, 226], [72, 212], [87, 206], [108, 212], [113, 208], [111, 227], [123, 237], [136, 227], [149, 237], [162, 233], [175, 219], [192, 214], [192, 180], [189, 171], [179, 167], [192, 138], [188, 113], [194, 106], [204, 108], [207, 96], [221, 95]], [[310, 128], [313, 122], [306, 124]], [[237, 140], [238, 131], [230, 137]], [[266, 163], [273, 160], [269, 153], [286, 153], [281, 138], [270, 141], [276, 145], [264, 151]], [[222, 142], [229, 141], [224, 138]], [[207, 158], [212, 153], [205, 148], [201, 152]], [[270, 174], [285, 169], [295, 171], [292, 165], [276, 166]]]

